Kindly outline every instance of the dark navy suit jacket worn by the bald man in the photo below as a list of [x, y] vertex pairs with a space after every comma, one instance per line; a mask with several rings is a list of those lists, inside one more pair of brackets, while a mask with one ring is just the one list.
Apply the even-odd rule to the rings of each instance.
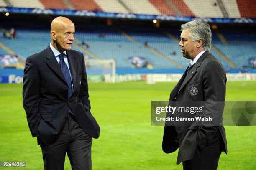
[[68, 85], [50, 46], [29, 56], [24, 69], [23, 107], [28, 126], [32, 136], [39, 137], [46, 145], [60, 136], [68, 107], [84, 132], [94, 138], [100, 135], [100, 127], [90, 113], [83, 54], [74, 50], [66, 52], [74, 85], [69, 100]]

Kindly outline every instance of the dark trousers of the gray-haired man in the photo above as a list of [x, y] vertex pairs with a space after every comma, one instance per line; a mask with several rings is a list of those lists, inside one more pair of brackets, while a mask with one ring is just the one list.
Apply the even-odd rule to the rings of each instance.
[[217, 170], [222, 143], [223, 140], [218, 130], [202, 150], [196, 150], [192, 160], [182, 162], [183, 170]]

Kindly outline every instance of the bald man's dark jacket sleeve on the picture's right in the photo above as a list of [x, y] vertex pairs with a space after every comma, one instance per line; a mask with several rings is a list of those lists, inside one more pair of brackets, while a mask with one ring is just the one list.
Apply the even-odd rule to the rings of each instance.
[[88, 110], [91, 109], [91, 104], [89, 100], [89, 93], [88, 93], [88, 81], [87, 81], [87, 74], [85, 70], [85, 62], [84, 62], [84, 56], [81, 53], [82, 56], [82, 79], [81, 79], [81, 85], [80, 85], [80, 93], [79, 98], [82, 100], [82, 103], [84, 107]]

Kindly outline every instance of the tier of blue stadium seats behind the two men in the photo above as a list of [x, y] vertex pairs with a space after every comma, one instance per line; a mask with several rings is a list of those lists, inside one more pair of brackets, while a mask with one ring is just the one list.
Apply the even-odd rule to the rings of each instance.
[[[13, 49], [18, 55], [26, 58], [33, 53], [43, 50], [51, 41], [49, 30], [44, 28], [43, 25], [38, 25], [38, 28], [17, 28], [17, 38], [15, 40], [1, 38], [0, 41], [7, 47]], [[76, 41], [74, 41], [72, 48], [81, 51], [89, 58], [94, 58], [94, 56], [81, 50], [81, 47], [83, 48], [82, 41], [85, 41], [88, 44], [86, 51], [101, 59], [115, 58], [118, 68], [131, 67], [128, 58], [133, 56], [146, 58], [154, 68], [179, 68], [175, 63], [166, 60], [166, 58], [179, 63], [183, 68], [187, 67], [188, 61], [181, 57], [180, 47], [177, 42], [179, 41], [179, 27], [164, 28], [175, 39], [167, 36], [162, 29], [153, 26], [133, 25], [132, 28], [127, 25], [118, 26], [118, 30], [122, 30], [133, 38], [134, 42], [118, 32], [114, 26], [102, 24], [77, 25], [77, 31], [75, 33]], [[234, 30], [220, 29], [219, 31], [223, 32], [223, 36], [227, 39], [228, 44], [224, 45], [215, 31], [213, 31], [212, 46], [224, 53], [238, 68], [242, 68], [247, 64], [247, 59], [254, 55], [255, 45], [253, 44], [255, 43], [253, 43], [253, 39], [255, 34], [253, 34], [253, 30], [243, 30], [243, 33], [238, 35]], [[145, 46], [145, 42], [147, 42], [147, 46]], [[166, 58], [158, 55], [158, 53], [152, 52], [148, 47], [163, 54]], [[174, 51], [175, 53], [173, 53]], [[6, 52], [2, 50], [1, 53], [5, 54]], [[211, 53], [223, 63], [225, 68], [231, 68], [230, 64], [214, 48], [211, 49]]]

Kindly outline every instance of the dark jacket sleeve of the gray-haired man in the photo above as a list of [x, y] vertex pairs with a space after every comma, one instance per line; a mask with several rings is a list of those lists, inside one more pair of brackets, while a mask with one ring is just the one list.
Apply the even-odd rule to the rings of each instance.
[[211, 61], [203, 71], [203, 86], [205, 97], [205, 117], [212, 117], [214, 124], [203, 121], [197, 132], [198, 146], [202, 149], [208, 141], [214, 137], [219, 126], [217, 122], [222, 121], [222, 114], [226, 93], [226, 75], [220, 63]]

